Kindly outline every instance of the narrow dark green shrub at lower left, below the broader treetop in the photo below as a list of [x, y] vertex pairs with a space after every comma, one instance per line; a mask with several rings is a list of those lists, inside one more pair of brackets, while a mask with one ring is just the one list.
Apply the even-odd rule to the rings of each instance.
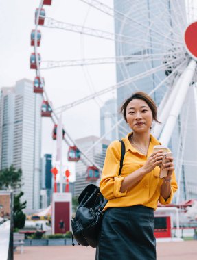
[[23, 192], [20, 192], [19, 194], [14, 195], [14, 229], [23, 229], [23, 226], [25, 226], [26, 216], [23, 213], [23, 209], [25, 209], [27, 202], [20, 202], [21, 196], [23, 196], [23, 194]]

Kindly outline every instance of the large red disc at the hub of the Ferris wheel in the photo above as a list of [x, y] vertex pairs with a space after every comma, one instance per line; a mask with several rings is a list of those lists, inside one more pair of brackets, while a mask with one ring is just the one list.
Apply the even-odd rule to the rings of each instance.
[[189, 55], [197, 60], [197, 22], [191, 23], [186, 28], [185, 46]]

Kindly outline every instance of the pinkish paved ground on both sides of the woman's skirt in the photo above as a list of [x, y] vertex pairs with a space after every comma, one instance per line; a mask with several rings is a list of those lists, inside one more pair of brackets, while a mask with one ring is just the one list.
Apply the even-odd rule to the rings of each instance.
[[[157, 243], [157, 260], [196, 260], [197, 240]], [[30, 246], [23, 254], [14, 252], [14, 260], [94, 260], [95, 248], [84, 246]], [[106, 259], [107, 260], [107, 259]], [[124, 260], [124, 259], [122, 259]], [[130, 259], [132, 260], [132, 259]]]

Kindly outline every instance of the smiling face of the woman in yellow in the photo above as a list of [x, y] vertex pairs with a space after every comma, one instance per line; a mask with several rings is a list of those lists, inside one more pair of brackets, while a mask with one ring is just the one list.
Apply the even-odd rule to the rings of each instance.
[[126, 107], [126, 120], [136, 133], [150, 132], [152, 111], [148, 104], [141, 99], [133, 99]]

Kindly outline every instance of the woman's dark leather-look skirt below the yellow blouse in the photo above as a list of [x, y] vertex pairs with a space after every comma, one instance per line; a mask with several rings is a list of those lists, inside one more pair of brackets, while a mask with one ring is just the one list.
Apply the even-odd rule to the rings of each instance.
[[154, 210], [112, 207], [104, 212], [96, 260], [155, 260]]

